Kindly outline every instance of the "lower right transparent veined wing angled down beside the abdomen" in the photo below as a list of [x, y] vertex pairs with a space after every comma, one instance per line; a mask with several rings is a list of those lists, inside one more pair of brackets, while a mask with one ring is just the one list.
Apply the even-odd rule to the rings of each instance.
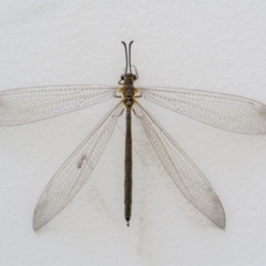
[[202, 172], [139, 103], [135, 104], [135, 112], [175, 185], [200, 212], [224, 228], [224, 208]]

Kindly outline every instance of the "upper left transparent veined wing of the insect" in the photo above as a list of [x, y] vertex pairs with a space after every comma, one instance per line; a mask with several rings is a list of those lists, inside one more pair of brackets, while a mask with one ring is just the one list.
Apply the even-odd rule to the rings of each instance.
[[19, 125], [65, 114], [114, 96], [105, 85], [59, 85], [0, 92], [0, 125]]

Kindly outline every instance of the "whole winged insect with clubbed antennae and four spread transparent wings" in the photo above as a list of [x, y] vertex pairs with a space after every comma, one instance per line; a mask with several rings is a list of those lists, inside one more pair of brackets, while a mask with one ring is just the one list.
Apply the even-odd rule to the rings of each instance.
[[[125, 111], [124, 216], [127, 225], [132, 206], [132, 111], [143, 127], [168, 175], [184, 196], [217, 226], [225, 227], [225, 213], [213, 187], [197, 166], [158, 122], [137, 101], [162, 105], [203, 123], [242, 134], [266, 133], [266, 105], [223, 93], [173, 88], [135, 88], [137, 70], [131, 64], [131, 45], [122, 42], [126, 66], [120, 88], [106, 85], [61, 85], [0, 92], [0, 125], [19, 125], [54, 117], [117, 98], [114, 106], [70, 155], [47, 185], [33, 216], [37, 231], [59, 214], [94, 170], [115, 124]], [[134, 73], [132, 71], [134, 68]]]

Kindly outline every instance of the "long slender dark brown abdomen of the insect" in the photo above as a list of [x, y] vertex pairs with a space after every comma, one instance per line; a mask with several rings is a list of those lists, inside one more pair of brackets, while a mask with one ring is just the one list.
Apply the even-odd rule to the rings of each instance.
[[124, 176], [124, 216], [130, 225], [132, 204], [132, 136], [131, 136], [131, 108], [126, 106], [125, 129], [125, 176]]

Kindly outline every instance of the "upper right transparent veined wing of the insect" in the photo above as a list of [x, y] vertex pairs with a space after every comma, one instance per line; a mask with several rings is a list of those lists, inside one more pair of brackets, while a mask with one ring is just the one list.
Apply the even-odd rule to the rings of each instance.
[[140, 88], [158, 105], [206, 124], [242, 134], [266, 133], [266, 105], [250, 99], [172, 88]]

